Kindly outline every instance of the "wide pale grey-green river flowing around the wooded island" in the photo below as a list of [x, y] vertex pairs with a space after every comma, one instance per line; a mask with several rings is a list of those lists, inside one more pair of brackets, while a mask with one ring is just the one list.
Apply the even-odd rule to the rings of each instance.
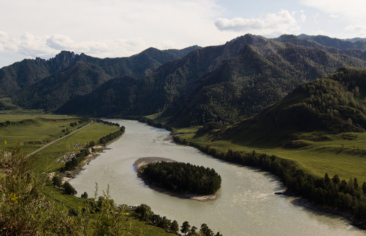
[[[291, 204], [294, 197], [275, 195], [285, 187], [265, 171], [235, 165], [212, 158], [196, 148], [167, 139], [165, 129], [132, 120], [108, 120], [126, 127], [126, 133], [108, 143], [109, 150], [85, 166], [70, 183], [78, 191], [93, 196], [110, 187], [117, 204], [149, 205], [155, 214], [188, 221], [200, 228], [206, 223], [213, 232], [237, 235], [365, 235], [346, 218]], [[141, 157], [160, 156], [180, 162], [214, 168], [221, 175], [222, 187], [214, 201], [172, 197], [146, 186], [137, 177], [132, 164]]]

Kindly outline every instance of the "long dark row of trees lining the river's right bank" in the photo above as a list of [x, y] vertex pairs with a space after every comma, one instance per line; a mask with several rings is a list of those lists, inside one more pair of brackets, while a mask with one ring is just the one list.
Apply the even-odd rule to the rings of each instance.
[[[180, 136], [175, 136], [174, 140], [183, 143]], [[345, 179], [340, 180], [338, 175], [334, 175], [330, 179], [328, 174], [325, 174], [324, 177], [317, 177], [306, 173], [291, 160], [281, 159], [275, 155], [258, 154], [255, 151], [246, 153], [230, 149], [227, 152], [219, 152], [209, 145], [203, 146], [187, 140], [186, 142], [216, 158], [259, 167], [276, 174], [288, 191], [299, 194], [319, 205], [347, 210], [358, 217], [359, 224], [366, 224], [366, 182], [360, 187], [356, 178], [346, 181]]]

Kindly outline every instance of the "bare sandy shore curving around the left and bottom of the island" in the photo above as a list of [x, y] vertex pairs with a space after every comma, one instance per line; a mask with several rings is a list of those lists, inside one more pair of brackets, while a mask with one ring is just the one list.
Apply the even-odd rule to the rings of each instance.
[[[159, 162], [159, 161], [177, 162], [176, 160], [172, 160], [169, 158], [150, 156], [150, 157], [143, 157], [143, 158], [137, 159], [132, 166], [134, 167], [135, 171], [137, 172], [141, 166], [149, 164], [149, 163]], [[158, 191], [160, 193], [168, 194], [173, 197], [187, 198], [187, 199], [197, 200], [200, 202], [213, 201], [217, 198], [217, 192], [212, 195], [199, 195], [199, 194], [192, 194], [192, 193], [174, 193], [174, 192], [167, 191], [163, 188], [156, 186], [156, 184], [151, 183], [149, 179], [145, 178], [141, 174], [137, 174], [137, 176], [139, 178], [141, 178], [142, 181], [145, 183], [145, 185], [149, 186], [151, 189]]]

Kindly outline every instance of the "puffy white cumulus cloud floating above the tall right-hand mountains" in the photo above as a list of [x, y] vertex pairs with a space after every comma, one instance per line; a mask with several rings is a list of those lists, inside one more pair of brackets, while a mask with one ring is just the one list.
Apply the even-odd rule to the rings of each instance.
[[288, 33], [289, 29], [299, 29], [294, 16], [283, 9], [277, 14], [268, 13], [265, 18], [243, 19], [236, 17], [231, 20], [217, 18], [215, 26], [220, 31], [253, 32], [262, 35], [283, 34]]

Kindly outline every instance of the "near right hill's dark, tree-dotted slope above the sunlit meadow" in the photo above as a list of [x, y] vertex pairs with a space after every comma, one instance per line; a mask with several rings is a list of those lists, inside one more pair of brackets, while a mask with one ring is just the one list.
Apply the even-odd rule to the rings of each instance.
[[[215, 139], [284, 144], [299, 131], [363, 132], [366, 128], [366, 70], [341, 67], [298, 86], [279, 102], [223, 131]], [[235, 137], [235, 138], [234, 138]]]

